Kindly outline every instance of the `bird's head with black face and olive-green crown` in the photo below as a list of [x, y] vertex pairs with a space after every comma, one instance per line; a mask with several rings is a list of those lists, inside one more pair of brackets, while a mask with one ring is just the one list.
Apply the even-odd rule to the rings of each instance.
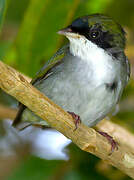
[[125, 32], [123, 28], [112, 18], [102, 14], [80, 17], [63, 30], [83, 35], [103, 49], [125, 48]]

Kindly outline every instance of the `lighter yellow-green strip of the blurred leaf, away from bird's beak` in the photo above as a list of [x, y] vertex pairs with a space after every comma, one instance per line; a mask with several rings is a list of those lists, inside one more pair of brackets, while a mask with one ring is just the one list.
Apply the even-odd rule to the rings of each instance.
[[42, 16], [47, 3], [48, 0], [31, 0], [28, 9], [25, 12], [24, 20], [15, 43], [16, 48], [14, 49], [16, 54], [16, 65], [20, 71], [29, 71], [30, 47], [32, 45], [32, 40], [34, 39], [39, 19]]

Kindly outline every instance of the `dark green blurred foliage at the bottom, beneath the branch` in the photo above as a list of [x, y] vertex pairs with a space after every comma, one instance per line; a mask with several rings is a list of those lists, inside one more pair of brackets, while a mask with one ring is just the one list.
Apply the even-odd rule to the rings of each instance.
[[74, 145], [70, 146], [71, 160], [42, 160], [31, 156], [23, 161], [8, 180], [107, 180], [96, 171], [96, 163], [99, 159], [82, 152]]

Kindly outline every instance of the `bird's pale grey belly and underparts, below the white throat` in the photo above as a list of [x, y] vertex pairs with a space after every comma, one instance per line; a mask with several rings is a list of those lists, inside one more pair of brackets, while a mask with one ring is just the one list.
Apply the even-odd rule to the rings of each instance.
[[[118, 88], [110, 90], [106, 88], [106, 83], [113, 82], [115, 77], [111, 74], [116, 75], [115, 72], [111, 72], [111, 68], [106, 72], [106, 78], [98, 80], [94, 68], [78, 57], [68, 55], [62, 62], [51, 70], [52, 74], [47, 79], [38, 81], [35, 87], [65, 111], [80, 115], [85, 125], [95, 125], [118, 101], [122, 91], [119, 75]], [[112, 68], [113, 71], [115, 67]], [[46, 125], [44, 120], [28, 109], [23, 113], [22, 121]]]

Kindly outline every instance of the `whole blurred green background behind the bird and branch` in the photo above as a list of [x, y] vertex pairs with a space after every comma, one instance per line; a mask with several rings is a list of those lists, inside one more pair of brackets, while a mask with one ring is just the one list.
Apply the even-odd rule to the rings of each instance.
[[[0, 0], [0, 59], [32, 78], [67, 42], [56, 32], [91, 13], [112, 16], [127, 32], [131, 81], [111, 120], [134, 133], [134, 0]], [[55, 130], [17, 132], [11, 127], [17, 104], [0, 90], [0, 180], [131, 179]]]

